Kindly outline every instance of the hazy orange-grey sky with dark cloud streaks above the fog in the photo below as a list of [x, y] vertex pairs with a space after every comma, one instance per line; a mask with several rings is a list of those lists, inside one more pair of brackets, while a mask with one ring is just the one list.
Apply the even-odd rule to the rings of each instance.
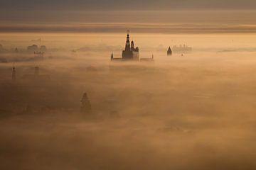
[[1, 0], [0, 32], [255, 33], [255, 9], [255, 0]]

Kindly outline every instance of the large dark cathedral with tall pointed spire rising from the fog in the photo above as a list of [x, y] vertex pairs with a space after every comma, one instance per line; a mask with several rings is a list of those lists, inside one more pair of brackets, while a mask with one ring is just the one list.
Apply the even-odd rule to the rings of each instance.
[[111, 60], [137, 60], [139, 61], [139, 47], [134, 47], [134, 41], [130, 43], [129, 31], [127, 32], [127, 40], [125, 43], [124, 50], [122, 51], [122, 58], [114, 58], [111, 55]]

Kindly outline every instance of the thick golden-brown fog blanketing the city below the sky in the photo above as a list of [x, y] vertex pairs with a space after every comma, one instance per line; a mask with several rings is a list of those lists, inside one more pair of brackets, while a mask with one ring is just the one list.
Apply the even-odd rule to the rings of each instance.
[[0, 169], [256, 168], [255, 35], [130, 35], [154, 62], [111, 62], [125, 34], [1, 36]]

